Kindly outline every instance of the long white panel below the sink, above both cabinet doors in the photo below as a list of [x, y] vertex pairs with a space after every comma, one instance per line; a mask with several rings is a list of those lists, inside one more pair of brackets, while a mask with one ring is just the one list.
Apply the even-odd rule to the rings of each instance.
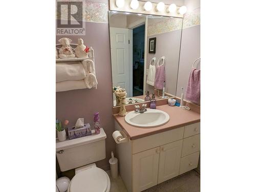
[[178, 141], [183, 138], [183, 133], [184, 126], [155, 135], [132, 140], [132, 154], [136, 154], [170, 142]]

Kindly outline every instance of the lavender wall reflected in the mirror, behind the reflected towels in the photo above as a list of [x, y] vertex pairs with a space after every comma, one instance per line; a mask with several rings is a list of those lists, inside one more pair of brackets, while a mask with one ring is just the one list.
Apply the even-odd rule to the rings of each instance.
[[[156, 53], [148, 53], [148, 40], [156, 37]], [[175, 95], [179, 65], [181, 30], [151, 35], [147, 37], [146, 69], [150, 66], [150, 60], [165, 56], [165, 92]], [[153, 92], [154, 87], [146, 83], [146, 91]]]

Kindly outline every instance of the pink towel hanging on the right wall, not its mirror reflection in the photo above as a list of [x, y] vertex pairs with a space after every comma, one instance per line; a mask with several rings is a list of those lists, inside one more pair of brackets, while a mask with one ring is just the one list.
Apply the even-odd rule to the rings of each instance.
[[200, 101], [200, 69], [191, 69], [187, 82], [186, 99], [195, 103]]

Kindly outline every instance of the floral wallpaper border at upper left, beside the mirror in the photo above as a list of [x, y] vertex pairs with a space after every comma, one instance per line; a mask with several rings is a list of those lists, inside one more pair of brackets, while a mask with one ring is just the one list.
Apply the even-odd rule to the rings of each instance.
[[[58, 1], [63, 1], [63, 0], [58, 0]], [[67, 1], [67, 2], [70, 2], [70, 1]], [[77, 2], [84, 2], [82, 7], [83, 21], [95, 22], [95, 23], [109, 23], [109, 20], [108, 20], [109, 5], [108, 4], [93, 3], [91, 1], [84, 1], [84, 0], [78, 0]], [[65, 14], [62, 14], [62, 15], [65, 16]], [[56, 18], [60, 19], [60, 15], [57, 14], [57, 6], [56, 6]], [[65, 17], [62, 19], [67, 20], [67, 18]], [[71, 20], [74, 20], [74, 19], [71, 18]]]

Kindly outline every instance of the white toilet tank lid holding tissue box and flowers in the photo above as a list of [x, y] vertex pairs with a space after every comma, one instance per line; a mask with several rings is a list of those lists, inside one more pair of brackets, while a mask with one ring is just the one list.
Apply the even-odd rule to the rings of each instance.
[[86, 136], [86, 137], [80, 137], [77, 139], [71, 139], [67, 137], [66, 141], [58, 141], [56, 139], [56, 152], [60, 150], [66, 150], [67, 148], [72, 148], [75, 146], [92, 143], [95, 141], [99, 141], [106, 138], [106, 134], [103, 130], [103, 128], [100, 128], [100, 134], [95, 134], [95, 131], [92, 130], [92, 135]]

